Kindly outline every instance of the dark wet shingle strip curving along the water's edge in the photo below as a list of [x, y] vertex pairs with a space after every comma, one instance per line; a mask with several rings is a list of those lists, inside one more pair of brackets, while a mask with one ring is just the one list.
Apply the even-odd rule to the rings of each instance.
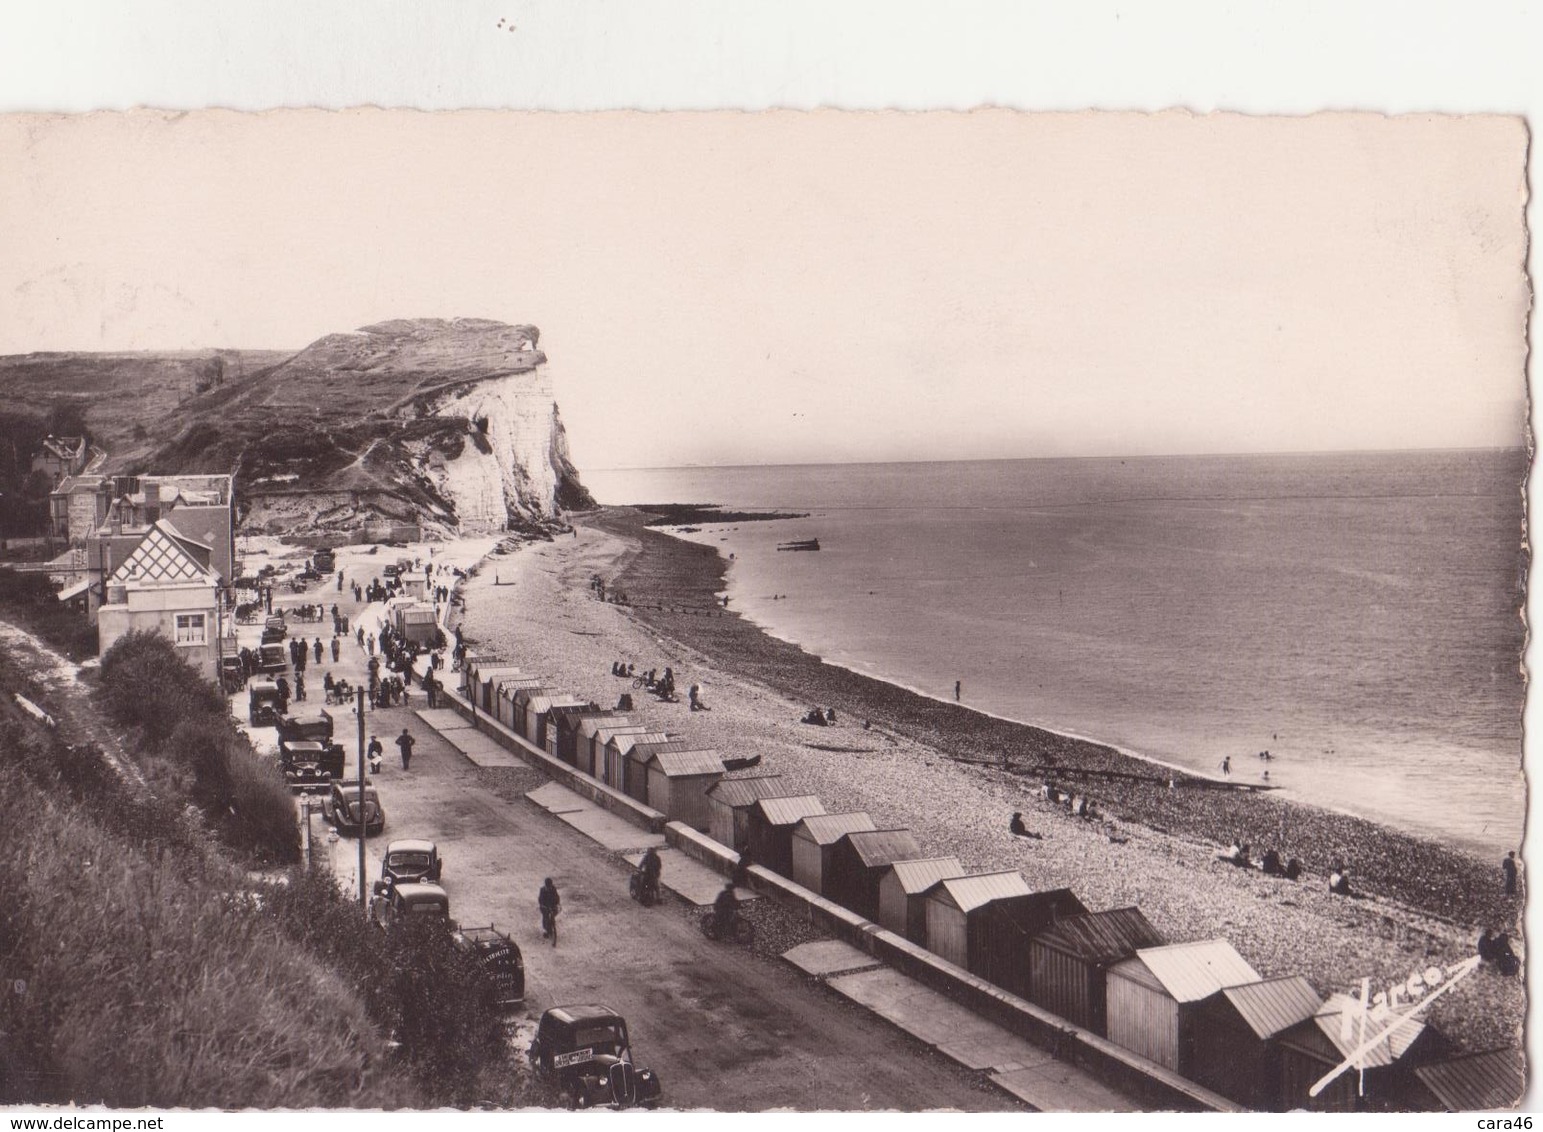
[[[1025, 793], [1045, 777], [1062, 774], [1068, 787], [1091, 787], [1096, 802], [1125, 820], [1159, 833], [1227, 845], [1275, 845], [1296, 856], [1315, 874], [1327, 874], [1336, 859], [1352, 865], [1362, 884], [1449, 921], [1511, 922], [1514, 910], [1497, 893], [1495, 870], [1469, 848], [1435, 841], [1358, 814], [1278, 797], [1276, 791], [1242, 790], [1177, 768], [1177, 790], [1159, 788], [1157, 763], [1105, 743], [991, 716], [946, 699], [930, 697], [826, 662], [767, 634], [716, 600], [724, 592], [727, 560], [704, 543], [647, 527], [628, 507], [586, 517], [588, 523], [639, 546], [617, 572], [628, 594], [626, 612], [656, 634], [702, 652], [724, 671], [773, 688], [805, 705], [821, 703], [847, 717], [872, 719], [949, 757], [986, 762], [1008, 754], [1014, 770], [1035, 770]], [[1105, 774], [1143, 779], [1128, 783]], [[1183, 783], [1188, 783], [1187, 787]]]

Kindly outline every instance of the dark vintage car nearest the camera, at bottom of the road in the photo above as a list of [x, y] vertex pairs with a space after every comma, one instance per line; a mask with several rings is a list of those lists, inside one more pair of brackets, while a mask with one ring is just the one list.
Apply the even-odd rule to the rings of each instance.
[[663, 1097], [659, 1076], [633, 1066], [626, 1021], [608, 1006], [560, 1006], [542, 1015], [531, 1064], [555, 1078], [576, 1109], [651, 1109]]

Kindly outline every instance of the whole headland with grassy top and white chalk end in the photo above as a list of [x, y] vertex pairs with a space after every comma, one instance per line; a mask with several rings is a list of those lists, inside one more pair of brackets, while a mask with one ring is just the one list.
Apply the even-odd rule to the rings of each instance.
[[535, 327], [489, 319], [327, 335], [185, 401], [179, 435], [145, 463], [233, 467], [255, 532], [560, 529], [593, 500], [539, 342]]

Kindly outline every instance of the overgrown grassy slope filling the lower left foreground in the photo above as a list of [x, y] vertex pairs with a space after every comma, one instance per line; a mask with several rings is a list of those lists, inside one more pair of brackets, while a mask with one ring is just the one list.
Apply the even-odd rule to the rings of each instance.
[[164, 779], [131, 785], [17, 691], [59, 711], [0, 652], [0, 1104], [526, 1100], [446, 933], [386, 935], [321, 873], [253, 873]]

